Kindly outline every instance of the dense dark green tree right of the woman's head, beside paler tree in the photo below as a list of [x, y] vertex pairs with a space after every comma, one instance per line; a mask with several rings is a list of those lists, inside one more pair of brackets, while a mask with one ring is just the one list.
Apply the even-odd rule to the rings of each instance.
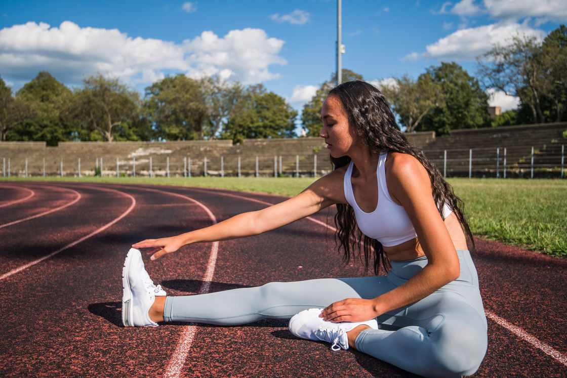
[[490, 126], [488, 95], [477, 79], [455, 62], [442, 62], [426, 71], [439, 84], [445, 98], [426, 114], [417, 130], [434, 130], [446, 135], [454, 129], [475, 129]]

